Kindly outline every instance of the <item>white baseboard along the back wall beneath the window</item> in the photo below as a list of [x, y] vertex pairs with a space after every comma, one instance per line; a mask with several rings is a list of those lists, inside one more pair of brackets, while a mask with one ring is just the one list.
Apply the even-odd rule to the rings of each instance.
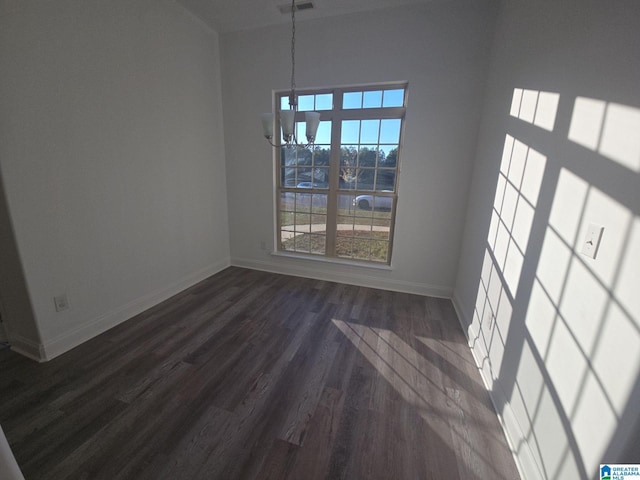
[[413, 293], [429, 297], [451, 298], [451, 294], [453, 293], [453, 289], [451, 287], [406, 282], [374, 275], [366, 275], [365, 273], [356, 273], [356, 270], [366, 271], [367, 267], [351, 267], [348, 265], [338, 264], [325, 265], [317, 260], [296, 259], [294, 265], [287, 261], [278, 262], [276, 264], [274, 262], [235, 257], [231, 259], [231, 265], [234, 267], [250, 268], [252, 270], [292, 275], [294, 277], [313, 278], [316, 280], [346, 283], [361, 287], [380, 288], [383, 290]]

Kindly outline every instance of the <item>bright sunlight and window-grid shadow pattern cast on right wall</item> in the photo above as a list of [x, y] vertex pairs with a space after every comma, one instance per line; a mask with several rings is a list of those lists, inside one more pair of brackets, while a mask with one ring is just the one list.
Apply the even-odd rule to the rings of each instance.
[[563, 96], [554, 131], [560, 100], [514, 89], [469, 338], [519, 456], [587, 478], [638, 416], [640, 109]]

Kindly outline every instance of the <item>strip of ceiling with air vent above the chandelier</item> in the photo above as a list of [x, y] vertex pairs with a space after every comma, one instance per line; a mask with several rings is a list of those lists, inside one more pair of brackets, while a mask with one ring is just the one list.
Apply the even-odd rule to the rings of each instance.
[[[289, 14], [278, 9], [290, 0], [177, 0], [218, 33], [266, 27], [291, 21]], [[300, 0], [296, 3], [305, 3]], [[311, 0], [313, 10], [296, 12], [297, 20], [331, 17], [348, 13], [398, 7], [434, 0]]]

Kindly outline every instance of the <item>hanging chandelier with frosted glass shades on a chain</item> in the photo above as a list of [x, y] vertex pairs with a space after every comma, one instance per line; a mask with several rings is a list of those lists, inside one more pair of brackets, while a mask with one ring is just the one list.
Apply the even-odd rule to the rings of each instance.
[[[291, 0], [291, 90], [289, 92], [289, 110], [280, 111], [280, 125], [282, 127], [282, 141], [284, 146], [308, 147], [315, 142], [316, 132], [320, 124], [320, 114], [318, 112], [305, 112], [307, 144], [298, 143], [295, 128], [295, 116], [298, 110], [298, 98], [296, 96], [296, 3]], [[271, 146], [278, 146], [273, 143], [273, 113], [263, 113], [260, 115], [264, 137]]]

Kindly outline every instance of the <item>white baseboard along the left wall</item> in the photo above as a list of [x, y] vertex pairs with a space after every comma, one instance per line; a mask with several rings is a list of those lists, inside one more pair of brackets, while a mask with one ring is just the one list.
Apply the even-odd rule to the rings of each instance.
[[[38, 354], [36, 357], [34, 351], [26, 350], [22, 347], [15, 348], [16, 345], [12, 344], [12, 348], [19, 353], [23, 353], [30, 358], [35, 358], [38, 361], [48, 361], [58, 355], [61, 355], [74, 347], [90, 340], [91, 338], [100, 335], [103, 332], [115, 327], [116, 325], [138, 315], [139, 313], [148, 310], [149, 308], [163, 302], [164, 300], [180, 293], [181, 291], [201, 282], [205, 278], [210, 277], [218, 273], [219, 271], [227, 268], [230, 265], [229, 259], [225, 259], [213, 265], [209, 265], [206, 268], [198, 270], [192, 274], [186, 275], [178, 281], [172, 283], [167, 287], [163, 287], [155, 292], [151, 292], [143, 297], [137, 298], [121, 307], [116, 308], [110, 312], [84, 323], [78, 328], [64, 332], [55, 338], [44, 342], [43, 345], [39, 345]], [[12, 342], [14, 339], [12, 338]], [[26, 351], [25, 351], [26, 350]]]

